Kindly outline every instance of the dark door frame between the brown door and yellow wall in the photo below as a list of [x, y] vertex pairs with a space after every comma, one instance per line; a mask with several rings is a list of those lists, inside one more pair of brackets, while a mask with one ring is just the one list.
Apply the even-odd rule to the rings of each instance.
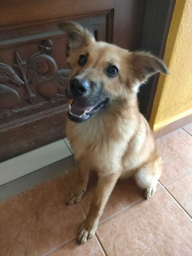
[[[168, 32], [176, 0], [146, 0], [146, 9], [140, 41], [140, 50], [150, 51], [164, 58]], [[159, 74], [151, 77], [147, 84], [141, 86], [138, 94], [140, 112], [150, 119]]]

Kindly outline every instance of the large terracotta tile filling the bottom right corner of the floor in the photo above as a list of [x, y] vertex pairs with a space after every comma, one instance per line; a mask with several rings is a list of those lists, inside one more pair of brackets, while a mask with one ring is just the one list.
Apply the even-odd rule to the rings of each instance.
[[110, 256], [192, 255], [192, 221], [164, 190], [100, 225], [97, 234]]

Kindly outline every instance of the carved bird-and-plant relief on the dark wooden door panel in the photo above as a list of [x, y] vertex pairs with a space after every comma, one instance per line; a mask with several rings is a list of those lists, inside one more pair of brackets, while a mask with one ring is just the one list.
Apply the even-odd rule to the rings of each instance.
[[[52, 104], [66, 99], [66, 84], [70, 70], [58, 70], [53, 53], [52, 40], [44, 40], [40, 50], [33, 54], [27, 62], [15, 53], [20, 77], [7, 64], [0, 63], [0, 117], [11, 116], [28, 108], [38, 108], [38, 104]], [[22, 86], [22, 90], [15, 87]], [[46, 99], [46, 102], [42, 98]], [[27, 101], [30, 106], [26, 106]], [[32, 106], [31, 106], [32, 105]], [[24, 107], [24, 110], [22, 108]], [[51, 106], [50, 106], [51, 108]]]

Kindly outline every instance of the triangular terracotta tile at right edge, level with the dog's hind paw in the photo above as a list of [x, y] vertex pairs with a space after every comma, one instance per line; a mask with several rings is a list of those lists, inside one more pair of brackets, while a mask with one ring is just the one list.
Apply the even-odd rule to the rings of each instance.
[[174, 181], [166, 188], [182, 207], [192, 216], [192, 172]]

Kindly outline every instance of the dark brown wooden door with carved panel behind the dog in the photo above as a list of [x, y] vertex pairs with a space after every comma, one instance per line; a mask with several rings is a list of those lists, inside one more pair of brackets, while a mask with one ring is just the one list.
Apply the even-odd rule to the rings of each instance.
[[64, 138], [67, 38], [75, 20], [97, 40], [136, 50], [145, 0], [0, 1], [0, 161]]

